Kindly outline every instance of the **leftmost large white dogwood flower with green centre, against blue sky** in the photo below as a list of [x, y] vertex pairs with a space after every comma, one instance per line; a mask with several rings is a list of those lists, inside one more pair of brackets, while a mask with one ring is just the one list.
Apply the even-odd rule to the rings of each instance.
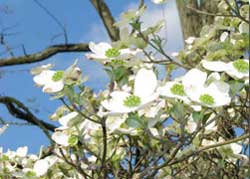
[[34, 76], [33, 80], [38, 86], [43, 87], [45, 93], [56, 93], [63, 89], [63, 71], [44, 70]]

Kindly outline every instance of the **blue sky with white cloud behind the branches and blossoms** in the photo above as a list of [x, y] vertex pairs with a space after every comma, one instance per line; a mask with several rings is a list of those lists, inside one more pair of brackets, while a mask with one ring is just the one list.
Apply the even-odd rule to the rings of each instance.
[[[39, 2], [65, 25], [69, 43], [109, 42], [103, 24], [89, 0], [40, 0]], [[119, 19], [121, 12], [138, 6], [137, 0], [107, 0], [106, 2], [115, 19]], [[169, 0], [167, 4], [159, 6], [147, 0], [146, 4], [148, 9], [143, 16], [144, 26], [166, 19], [166, 26], [161, 32], [161, 35], [167, 39], [166, 51], [171, 53], [182, 49], [183, 39], [175, 1]], [[1, 12], [1, 9], [7, 11], [7, 14]], [[4, 30], [8, 27], [12, 28]], [[63, 36], [53, 39], [61, 34], [62, 30], [33, 0], [1, 0], [0, 33], [14, 33], [6, 36], [5, 40], [13, 48], [15, 56], [23, 55], [22, 45], [30, 54], [64, 42]], [[2, 52], [4, 48], [0, 46], [0, 55], [2, 55], [0, 59], [6, 57]], [[75, 59], [78, 59], [78, 65], [83, 74], [89, 76], [85, 85], [95, 92], [105, 89], [108, 78], [99, 64], [87, 60], [84, 53], [61, 53], [35, 64], [1, 67], [0, 95], [20, 100], [39, 119], [57, 125], [56, 122], [49, 120], [49, 116], [61, 103], [50, 100], [48, 94], [42, 93], [41, 88], [35, 87], [29, 70], [48, 63], [54, 64], [55, 70], [66, 69]], [[20, 122], [9, 115], [5, 106], [1, 104], [0, 117], [7, 121]], [[28, 146], [29, 153], [37, 153], [41, 145], [47, 144], [45, 135], [34, 126], [10, 126], [0, 135], [0, 146], [5, 151], [8, 148], [16, 150], [19, 146]]]

